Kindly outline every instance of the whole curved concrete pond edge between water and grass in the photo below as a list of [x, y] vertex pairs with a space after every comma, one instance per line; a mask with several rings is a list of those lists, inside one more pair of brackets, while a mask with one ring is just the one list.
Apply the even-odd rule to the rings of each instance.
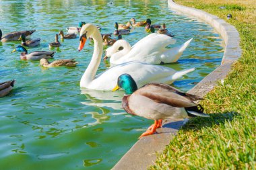
[[[204, 77], [203, 80], [193, 87], [193, 89], [188, 91], [188, 93], [203, 97], [214, 88], [218, 81], [224, 79], [228, 75], [232, 64], [241, 57], [242, 50], [239, 46], [239, 33], [234, 26], [226, 23], [216, 15], [206, 13], [199, 9], [178, 5], [177, 3], [174, 3], [173, 0], [168, 0], [168, 7], [174, 11], [185, 13], [185, 15], [196, 17], [203, 20], [203, 22], [210, 24], [225, 42], [221, 65], [212, 71], [212, 73]], [[162, 128], [157, 130], [157, 134], [145, 136], [138, 140], [119, 160], [113, 169], [138, 170], [147, 169], [150, 165], [154, 165], [157, 153], [164, 151], [166, 145], [169, 144], [170, 140], [172, 140], [182, 125], [183, 121], [172, 122], [170, 120], [164, 120]]]

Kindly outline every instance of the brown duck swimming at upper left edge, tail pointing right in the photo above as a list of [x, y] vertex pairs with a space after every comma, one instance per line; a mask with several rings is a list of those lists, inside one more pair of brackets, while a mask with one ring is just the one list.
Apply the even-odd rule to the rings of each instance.
[[2, 31], [0, 30], [0, 40], [1, 40], [1, 42], [18, 41], [22, 34], [24, 34], [25, 36], [30, 36], [35, 31], [36, 30], [28, 30], [28, 31], [20, 31], [20, 32], [10, 32], [8, 34], [3, 35]]

